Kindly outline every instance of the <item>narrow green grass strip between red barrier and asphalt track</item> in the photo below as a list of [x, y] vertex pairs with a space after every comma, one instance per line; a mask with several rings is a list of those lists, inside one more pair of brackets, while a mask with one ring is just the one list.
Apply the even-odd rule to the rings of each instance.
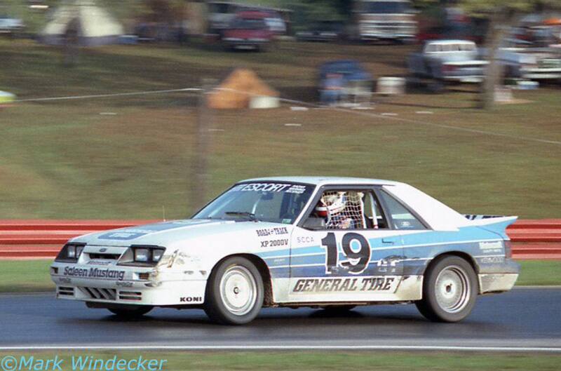
[[[51, 261], [0, 260], [0, 292], [53, 291], [50, 281]], [[561, 285], [561, 262], [524, 260], [516, 285]]]

